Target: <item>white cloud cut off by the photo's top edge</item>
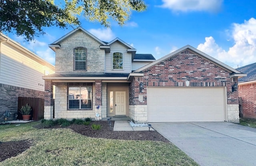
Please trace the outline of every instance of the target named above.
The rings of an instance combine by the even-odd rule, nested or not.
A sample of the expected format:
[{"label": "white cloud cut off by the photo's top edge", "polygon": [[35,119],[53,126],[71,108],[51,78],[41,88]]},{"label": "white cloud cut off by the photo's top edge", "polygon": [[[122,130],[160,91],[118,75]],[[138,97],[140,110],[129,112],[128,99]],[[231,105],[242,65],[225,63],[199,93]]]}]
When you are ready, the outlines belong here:
[{"label": "white cloud cut off by the photo's top edge", "polygon": [[162,8],[174,11],[209,11],[220,10],[223,0],[162,0]]}]

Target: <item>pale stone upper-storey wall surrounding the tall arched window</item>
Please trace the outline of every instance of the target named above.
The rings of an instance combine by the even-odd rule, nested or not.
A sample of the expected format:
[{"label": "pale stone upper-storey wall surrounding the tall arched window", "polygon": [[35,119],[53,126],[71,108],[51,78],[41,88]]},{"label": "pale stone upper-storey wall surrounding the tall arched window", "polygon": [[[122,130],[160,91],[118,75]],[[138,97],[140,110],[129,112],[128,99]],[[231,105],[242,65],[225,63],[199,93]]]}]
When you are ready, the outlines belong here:
[{"label": "pale stone upper-storey wall surrounding the tall arched window", "polygon": [[74,71],[74,48],[86,48],[86,72],[105,71],[105,51],[100,49],[100,43],[91,38],[82,30],[78,30],[60,43],[56,49],[55,72]]}]

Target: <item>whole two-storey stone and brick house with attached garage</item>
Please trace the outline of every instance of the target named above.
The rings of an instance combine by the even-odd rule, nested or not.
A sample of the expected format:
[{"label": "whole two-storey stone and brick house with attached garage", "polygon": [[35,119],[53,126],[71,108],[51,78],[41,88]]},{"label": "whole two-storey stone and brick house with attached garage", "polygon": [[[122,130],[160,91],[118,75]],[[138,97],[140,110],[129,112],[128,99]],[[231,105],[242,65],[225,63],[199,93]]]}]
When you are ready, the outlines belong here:
[{"label": "whole two-storey stone and brick house with attached garage", "polygon": [[55,85],[55,118],[239,122],[232,87],[246,74],[192,46],[154,60],[119,38],[102,42],[81,27],[49,46],[56,52],[56,73],[43,77],[45,118],[53,118]]}]

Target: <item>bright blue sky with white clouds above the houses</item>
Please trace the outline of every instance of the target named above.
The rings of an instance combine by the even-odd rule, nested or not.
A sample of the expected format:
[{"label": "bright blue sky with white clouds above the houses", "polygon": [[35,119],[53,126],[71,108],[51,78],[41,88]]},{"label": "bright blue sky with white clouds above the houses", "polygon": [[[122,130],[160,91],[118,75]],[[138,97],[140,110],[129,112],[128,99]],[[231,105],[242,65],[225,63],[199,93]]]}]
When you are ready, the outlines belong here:
[{"label": "bright blue sky with white clouds above the houses", "polygon": [[[106,28],[80,16],[81,26],[110,42],[116,37],[137,49],[137,54],[152,54],[159,59],[190,45],[233,67],[256,62],[255,0],[144,0],[144,12],[132,11],[124,26],[111,22]],[[75,28],[75,27],[74,27]],[[26,42],[22,36],[8,36],[38,56],[55,64],[55,53],[48,44],[73,28],[44,28],[46,35]]]}]

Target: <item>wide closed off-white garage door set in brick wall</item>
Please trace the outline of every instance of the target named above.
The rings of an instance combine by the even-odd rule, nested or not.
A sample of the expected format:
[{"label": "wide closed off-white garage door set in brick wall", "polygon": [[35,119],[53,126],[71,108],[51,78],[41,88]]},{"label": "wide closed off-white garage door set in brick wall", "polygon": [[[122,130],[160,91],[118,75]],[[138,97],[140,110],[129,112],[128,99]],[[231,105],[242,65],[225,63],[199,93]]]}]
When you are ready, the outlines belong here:
[{"label": "wide closed off-white garage door set in brick wall", "polygon": [[213,122],[226,120],[223,87],[148,87],[148,122]]}]

